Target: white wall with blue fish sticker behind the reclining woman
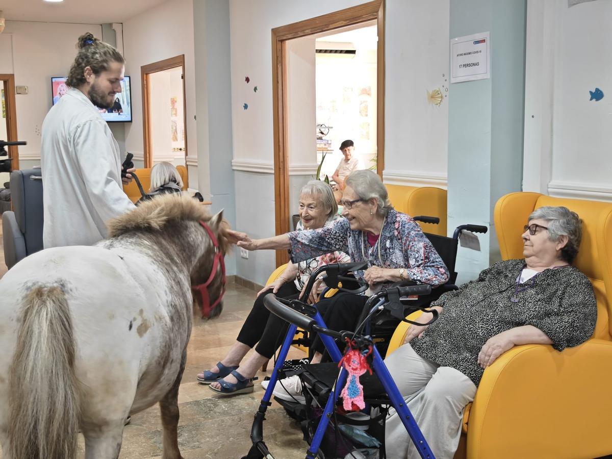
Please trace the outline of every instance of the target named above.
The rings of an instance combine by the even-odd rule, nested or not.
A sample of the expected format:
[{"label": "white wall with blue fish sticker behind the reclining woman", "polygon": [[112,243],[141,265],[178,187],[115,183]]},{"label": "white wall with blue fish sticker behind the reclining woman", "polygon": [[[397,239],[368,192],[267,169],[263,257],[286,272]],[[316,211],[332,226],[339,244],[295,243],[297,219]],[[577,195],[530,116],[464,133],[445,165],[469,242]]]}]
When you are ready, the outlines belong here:
[{"label": "white wall with blue fish sticker behind the reclining woman", "polygon": [[612,201],[612,3],[529,0],[527,17],[523,188]]}]

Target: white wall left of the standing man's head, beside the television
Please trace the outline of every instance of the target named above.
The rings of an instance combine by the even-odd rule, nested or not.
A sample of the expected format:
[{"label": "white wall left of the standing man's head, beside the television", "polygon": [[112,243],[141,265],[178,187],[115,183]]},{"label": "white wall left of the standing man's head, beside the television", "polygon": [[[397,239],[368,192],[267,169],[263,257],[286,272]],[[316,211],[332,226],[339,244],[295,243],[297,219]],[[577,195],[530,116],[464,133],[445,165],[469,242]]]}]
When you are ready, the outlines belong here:
[{"label": "white wall left of the standing man's head, beside the television", "polygon": [[51,108],[51,76],[67,76],[76,41],[85,32],[102,38],[99,24],[6,21],[0,34],[0,73],[13,73],[28,94],[15,95],[20,168],[40,164],[40,127]]}]

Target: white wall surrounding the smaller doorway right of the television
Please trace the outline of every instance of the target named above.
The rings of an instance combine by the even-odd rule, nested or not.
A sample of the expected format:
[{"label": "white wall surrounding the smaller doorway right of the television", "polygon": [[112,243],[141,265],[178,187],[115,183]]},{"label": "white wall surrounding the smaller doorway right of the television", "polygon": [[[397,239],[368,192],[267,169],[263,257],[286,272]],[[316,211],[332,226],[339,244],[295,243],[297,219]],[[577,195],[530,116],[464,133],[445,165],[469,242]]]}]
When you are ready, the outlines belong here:
[{"label": "white wall surrounding the smaller doorway right of the television", "polygon": [[[125,73],[132,76],[133,122],[125,128],[125,149],[136,158],[143,155],[142,86],[140,67],[185,54],[185,98],[187,110],[187,148],[189,187],[204,196],[210,194],[210,177],[206,166],[209,152],[198,149],[198,135],[204,127],[196,122],[195,62],[193,38],[193,1],[169,0],[135,16],[123,24]],[[203,120],[200,121],[200,124]]]}]

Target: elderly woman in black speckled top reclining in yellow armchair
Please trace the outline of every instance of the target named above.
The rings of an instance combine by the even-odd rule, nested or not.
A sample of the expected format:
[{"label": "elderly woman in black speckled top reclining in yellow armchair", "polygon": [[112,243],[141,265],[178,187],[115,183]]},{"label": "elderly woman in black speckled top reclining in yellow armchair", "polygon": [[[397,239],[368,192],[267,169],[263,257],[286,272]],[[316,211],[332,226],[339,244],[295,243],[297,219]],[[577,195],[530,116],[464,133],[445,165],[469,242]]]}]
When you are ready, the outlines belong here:
[{"label": "elderly woman in black speckled top reclining in yellow armchair", "polygon": [[[535,210],[523,233],[525,258],[496,263],[443,294],[432,303],[438,320],[409,327],[405,345],[385,360],[436,458],[455,454],[463,409],[501,354],[523,344],[562,351],[591,337],[595,296],[588,278],[571,266],[580,239],[575,212]],[[385,437],[387,457],[419,457],[395,410]]]}]

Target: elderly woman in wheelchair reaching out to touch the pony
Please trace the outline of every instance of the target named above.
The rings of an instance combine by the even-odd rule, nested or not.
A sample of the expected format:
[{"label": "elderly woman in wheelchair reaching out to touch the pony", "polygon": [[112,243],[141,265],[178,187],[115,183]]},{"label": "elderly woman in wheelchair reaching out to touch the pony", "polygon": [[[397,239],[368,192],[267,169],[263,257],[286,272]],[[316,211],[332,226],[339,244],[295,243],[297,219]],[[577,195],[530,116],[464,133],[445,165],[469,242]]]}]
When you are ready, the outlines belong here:
[{"label": "elderly woman in wheelchair reaching out to touch the pony", "polygon": [[[354,171],[346,177],[342,218],[320,230],[296,231],[268,239],[252,240],[247,234],[230,231],[230,240],[247,250],[289,249],[291,259],[300,261],[340,250],[351,261],[367,261],[365,271],[356,271],[357,280],[365,280],[370,291],[401,280],[414,280],[438,286],[449,278],[444,262],[419,225],[390,205],[380,177],[370,170]],[[316,300],[316,299],[315,299]],[[330,329],[349,330],[357,324],[367,296],[338,293],[321,300],[317,308]],[[321,360],[324,345],[316,339],[312,362]],[[286,379],[275,395],[283,398],[300,392],[299,378]],[[277,392],[277,390],[278,392]],[[283,390],[289,394],[283,394]]]}]

